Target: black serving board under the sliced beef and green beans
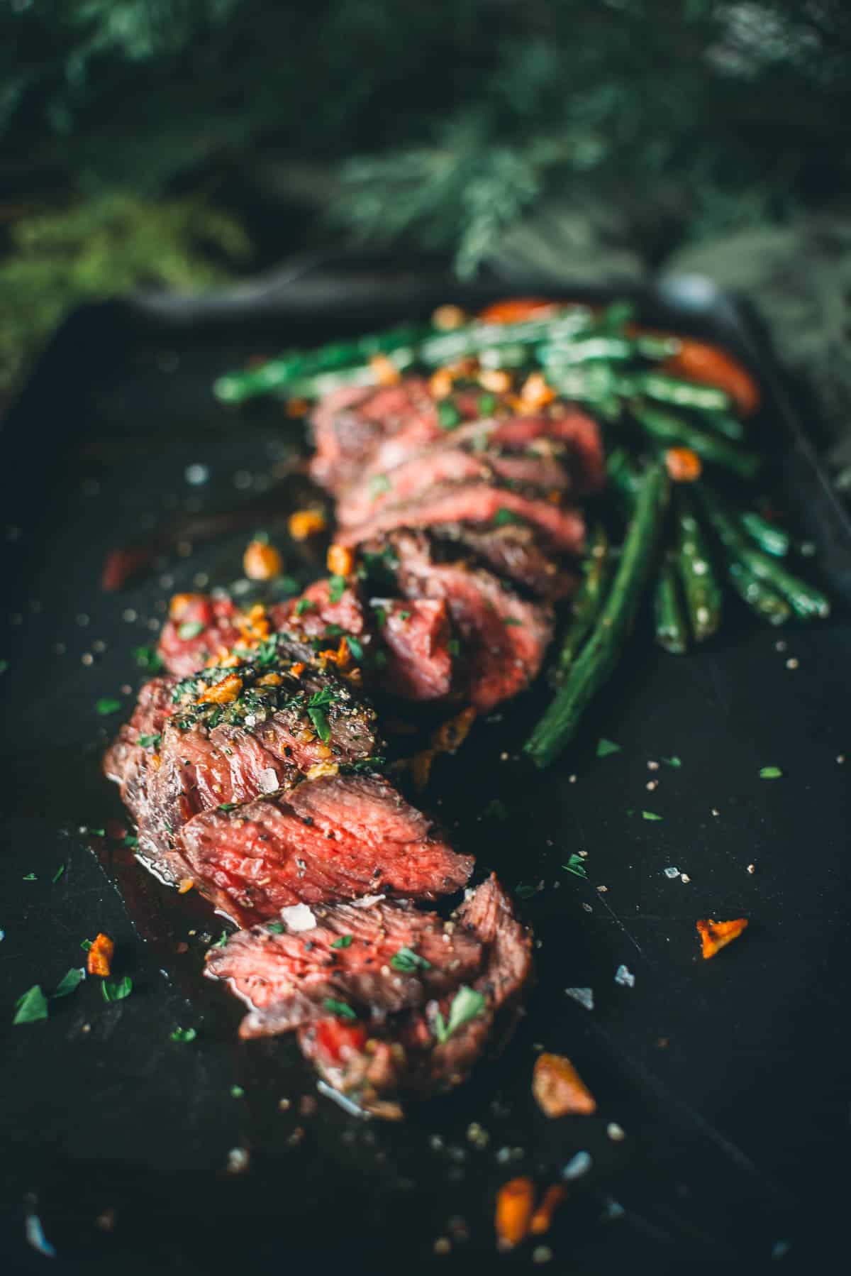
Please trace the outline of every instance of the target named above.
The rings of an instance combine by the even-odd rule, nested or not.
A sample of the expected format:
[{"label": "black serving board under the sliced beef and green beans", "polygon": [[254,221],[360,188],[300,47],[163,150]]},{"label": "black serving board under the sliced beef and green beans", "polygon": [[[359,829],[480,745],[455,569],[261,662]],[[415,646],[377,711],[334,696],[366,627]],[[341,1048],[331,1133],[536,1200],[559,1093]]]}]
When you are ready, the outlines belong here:
[{"label": "black serving board under the sliced beef and green beans", "polygon": [[[714,336],[757,367],[782,501],[818,546],[806,568],[823,572],[836,612],[778,632],[731,609],[718,639],[685,658],[656,649],[640,625],[551,771],[515,757],[541,688],[438,763],[430,800],[478,872],[496,869],[512,888],[544,883],[518,902],[537,937],[537,986],[496,1063],[404,1123],[346,1115],[316,1094],[291,1041],[237,1041],[239,1005],[200,977],[219,919],[161,887],[116,836],[91,832],[126,827],[100,776],[121,715],[100,717],[96,701],[117,697],[129,711],[143,676],[131,649],[156,638],[172,592],[233,579],[255,526],[286,544],[281,516],[297,484],[269,485],[300,427],[276,403],[217,404],[214,376],[253,353],[501,291],[492,281],[462,290],[440,263],[319,260],[198,302],[85,309],[8,415],[4,1270],[45,1268],[40,1228],[55,1266],[87,1276],[304,1262],[537,1270],[533,1257],[572,1273],[818,1270],[829,1250],[848,1154],[851,535],[758,327],[704,281],[669,281],[637,301],[649,322]],[[205,482],[188,481],[193,466],[207,467]],[[116,544],[240,505],[241,527],[198,544],[177,531],[186,544],[153,573],[101,592]],[[296,573],[320,572],[288,553]],[[596,758],[601,736],[621,752]],[[648,769],[672,755],[679,768]],[[783,777],[760,780],[767,764]],[[505,819],[486,813],[495,798]],[[581,850],[587,880],[561,868]],[[667,866],[690,882],[669,879]],[[744,938],[703,962],[695,919],[739,915],[750,917]],[[106,1004],[89,980],[51,1003],[48,1022],[13,1028],[15,998],[82,965],[80,940],[97,930],[115,937],[116,974],[131,975],[133,994]],[[633,988],[615,983],[621,963]],[[592,988],[593,1011],[569,986]],[[174,1042],[176,1026],[196,1039]],[[573,1059],[597,1116],[538,1113],[529,1081],[541,1046]],[[609,1136],[611,1122],[624,1139]],[[228,1173],[233,1150],[248,1154],[239,1174]],[[515,1174],[544,1187],[578,1152],[591,1169],[538,1242],[551,1258],[535,1244],[498,1254],[498,1187]]]}]

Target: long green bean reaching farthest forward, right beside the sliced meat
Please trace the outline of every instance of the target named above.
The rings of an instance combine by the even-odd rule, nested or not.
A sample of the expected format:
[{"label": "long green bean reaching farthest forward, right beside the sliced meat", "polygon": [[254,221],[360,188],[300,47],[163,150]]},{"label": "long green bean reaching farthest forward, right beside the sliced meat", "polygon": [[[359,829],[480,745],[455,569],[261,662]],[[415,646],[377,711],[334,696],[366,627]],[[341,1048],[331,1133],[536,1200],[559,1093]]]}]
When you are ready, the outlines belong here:
[{"label": "long green bean reaching farthest forward, right beside the sliced meat", "polygon": [[584,708],[618,665],[656,559],[669,493],[665,467],[656,462],[642,481],[618,570],[593,633],[523,746],[538,767],[549,766],[561,753],[573,738]]}]

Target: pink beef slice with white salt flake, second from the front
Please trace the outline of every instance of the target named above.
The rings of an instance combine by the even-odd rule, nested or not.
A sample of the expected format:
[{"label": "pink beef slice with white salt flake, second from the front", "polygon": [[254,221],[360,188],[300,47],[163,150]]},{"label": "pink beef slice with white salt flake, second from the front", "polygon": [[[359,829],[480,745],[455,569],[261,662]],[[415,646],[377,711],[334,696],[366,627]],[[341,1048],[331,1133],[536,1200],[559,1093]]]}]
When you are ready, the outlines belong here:
[{"label": "pink beef slice with white salt flake, second from the front", "polygon": [[473,934],[406,902],[300,906],[290,924],[286,910],[283,916],[272,928],[237,931],[207,954],[205,974],[226,980],[250,1008],[242,1037],[325,1018],[328,999],[380,1020],[422,1005],[481,968]]}]

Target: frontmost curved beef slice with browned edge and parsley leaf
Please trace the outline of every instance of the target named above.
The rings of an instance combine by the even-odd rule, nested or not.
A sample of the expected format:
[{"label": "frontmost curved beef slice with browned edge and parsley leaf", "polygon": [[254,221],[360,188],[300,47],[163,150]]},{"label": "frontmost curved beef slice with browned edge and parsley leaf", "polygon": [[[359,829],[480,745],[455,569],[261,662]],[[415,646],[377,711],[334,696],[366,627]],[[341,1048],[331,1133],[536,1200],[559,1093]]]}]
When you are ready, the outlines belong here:
[{"label": "frontmost curved beef slice with browned edge and parsley leaf", "polygon": [[380,1027],[329,1016],[299,1030],[302,1053],[325,1081],[367,1109],[459,1085],[485,1050],[505,1044],[517,1022],[532,975],[532,937],[495,877],[471,892],[454,921],[485,948],[484,968],[471,983],[459,980],[425,1008]]}]

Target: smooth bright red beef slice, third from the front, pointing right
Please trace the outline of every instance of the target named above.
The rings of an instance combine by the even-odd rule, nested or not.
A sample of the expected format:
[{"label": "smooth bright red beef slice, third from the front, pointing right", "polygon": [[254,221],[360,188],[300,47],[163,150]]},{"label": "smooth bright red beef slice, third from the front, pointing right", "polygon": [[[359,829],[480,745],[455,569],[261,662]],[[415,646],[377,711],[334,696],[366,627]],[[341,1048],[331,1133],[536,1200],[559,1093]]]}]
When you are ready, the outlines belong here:
[{"label": "smooth bright red beef slice, third from the front, pointing right", "polygon": [[196,815],[179,836],[202,894],[240,925],[295,903],[389,893],[433,900],[472,870],[376,776],[328,776],[235,810]]}]

